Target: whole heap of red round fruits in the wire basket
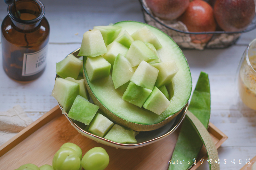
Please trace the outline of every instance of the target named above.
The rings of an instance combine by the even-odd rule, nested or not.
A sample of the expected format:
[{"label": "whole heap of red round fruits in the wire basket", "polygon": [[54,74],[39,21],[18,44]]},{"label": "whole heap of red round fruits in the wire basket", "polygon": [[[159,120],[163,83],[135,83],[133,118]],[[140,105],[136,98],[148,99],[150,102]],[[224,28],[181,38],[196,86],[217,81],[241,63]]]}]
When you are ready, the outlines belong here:
[{"label": "whole heap of red round fruits in the wire basket", "polygon": [[[209,2],[209,3],[207,3]],[[145,0],[152,13],[163,20],[183,22],[190,32],[242,31],[255,16],[254,0]],[[205,43],[211,34],[193,35],[193,43]]]}]

